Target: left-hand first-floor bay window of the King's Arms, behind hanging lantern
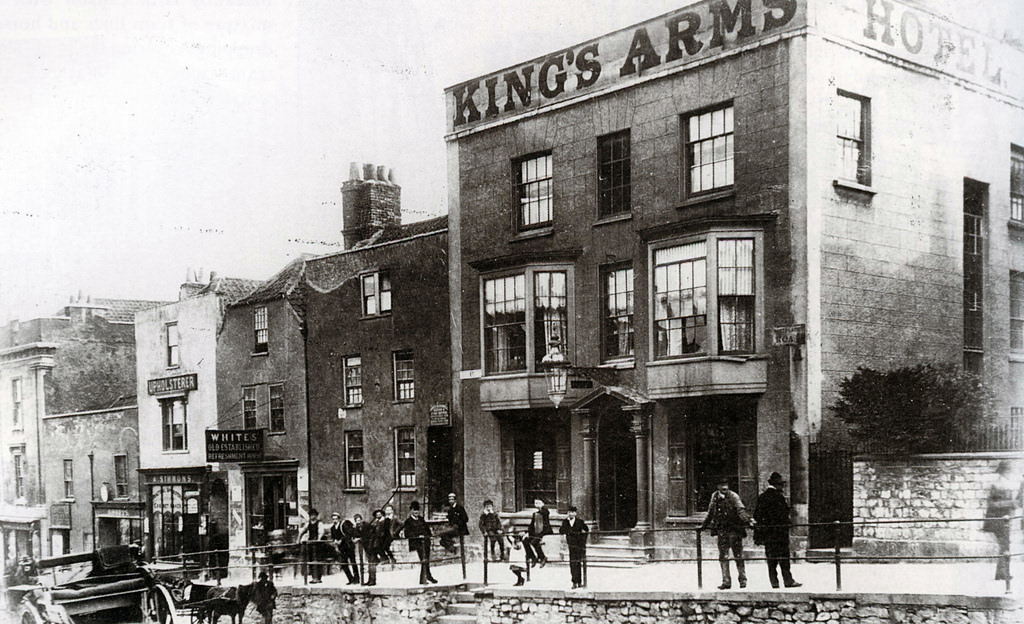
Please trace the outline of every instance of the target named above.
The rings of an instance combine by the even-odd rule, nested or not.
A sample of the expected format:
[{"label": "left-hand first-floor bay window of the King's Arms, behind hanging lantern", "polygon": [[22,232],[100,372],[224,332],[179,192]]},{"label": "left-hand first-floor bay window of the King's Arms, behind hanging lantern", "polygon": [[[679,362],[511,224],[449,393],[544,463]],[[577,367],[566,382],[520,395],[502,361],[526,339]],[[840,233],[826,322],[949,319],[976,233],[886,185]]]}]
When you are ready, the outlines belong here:
[{"label": "left-hand first-floor bay window of the King's Arms, behind hanging lantern", "polygon": [[569,336],[568,284],[567,271],[540,267],[483,280],[487,374],[537,372],[555,337],[564,350]]}]

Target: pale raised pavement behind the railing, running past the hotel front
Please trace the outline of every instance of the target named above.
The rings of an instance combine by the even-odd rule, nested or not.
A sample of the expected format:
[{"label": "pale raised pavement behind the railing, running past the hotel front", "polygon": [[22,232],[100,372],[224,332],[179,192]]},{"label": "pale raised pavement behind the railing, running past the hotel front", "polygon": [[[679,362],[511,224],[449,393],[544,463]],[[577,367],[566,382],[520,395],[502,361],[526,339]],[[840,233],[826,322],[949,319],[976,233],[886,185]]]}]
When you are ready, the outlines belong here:
[{"label": "pale raised pavement behind the railing, running past the hotel front", "polygon": [[[1024,598],[1024,560],[1014,561],[1014,577],[1019,579],[1012,587],[1012,595]],[[336,570],[336,569],[335,569]],[[475,560],[467,564],[466,577],[458,563],[431,566],[433,576],[439,581],[433,587],[455,586],[463,583],[483,585],[483,564]],[[738,586],[733,568],[732,592],[771,592],[780,596],[785,593],[812,593],[815,595],[852,593],[864,594],[923,594],[923,595],[965,595],[1004,596],[1006,583],[994,580],[994,563],[843,563],[842,589],[836,585],[836,569],[831,563],[797,563],[793,575],[802,587],[773,589],[768,582],[768,572],[764,561],[746,564],[749,582],[745,589]],[[236,570],[232,578],[225,583],[248,583],[251,575],[246,570]],[[507,564],[488,565],[488,588],[512,591],[555,590],[567,593],[623,593],[623,592],[666,592],[666,593],[719,593],[721,582],[717,560],[703,564],[703,588],[697,587],[695,563],[654,563],[636,568],[588,567],[587,587],[571,590],[568,566],[564,561],[554,561],[545,568],[532,568],[530,580],[522,587],[513,587],[515,577]],[[301,574],[286,571],[274,581],[279,587],[301,586]],[[310,587],[337,587],[346,590],[366,590],[368,587],[347,585],[347,579],[340,572],[325,575],[321,584]],[[410,589],[423,587],[419,584],[418,564],[382,564],[378,567],[375,592],[388,589]]]}]

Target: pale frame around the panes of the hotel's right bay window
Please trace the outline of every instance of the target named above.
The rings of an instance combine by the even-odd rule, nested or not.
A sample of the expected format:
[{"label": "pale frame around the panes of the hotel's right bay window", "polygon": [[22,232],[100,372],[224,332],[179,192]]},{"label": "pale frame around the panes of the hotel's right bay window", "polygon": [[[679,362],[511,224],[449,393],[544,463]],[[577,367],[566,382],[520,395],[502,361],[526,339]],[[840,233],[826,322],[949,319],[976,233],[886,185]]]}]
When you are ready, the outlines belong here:
[{"label": "pale frame around the panes of the hotel's right bay window", "polygon": [[[723,239],[754,240],[754,348],[750,352],[736,353],[723,351],[719,340],[719,296],[718,296],[718,241]],[[707,255],[707,337],[706,348],[692,352],[671,356],[656,355],[657,332],[654,326],[654,254],[659,249],[706,241]],[[764,273],[764,233],[761,230],[730,230],[726,227],[711,227],[686,237],[667,239],[652,243],[647,253],[647,343],[650,345],[650,361],[666,362],[674,360],[690,360],[719,356],[752,356],[764,350],[764,307],[765,307],[765,273]]]}]

